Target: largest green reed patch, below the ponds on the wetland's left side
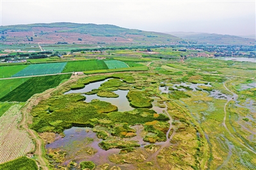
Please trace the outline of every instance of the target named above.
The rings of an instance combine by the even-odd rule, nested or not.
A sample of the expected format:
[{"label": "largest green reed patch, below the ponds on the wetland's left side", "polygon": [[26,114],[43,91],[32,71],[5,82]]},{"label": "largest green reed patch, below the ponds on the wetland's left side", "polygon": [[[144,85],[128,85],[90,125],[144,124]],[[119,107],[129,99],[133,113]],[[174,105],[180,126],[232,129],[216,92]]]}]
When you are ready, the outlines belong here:
[{"label": "largest green reed patch, below the ponds on the wetland's left side", "polygon": [[[63,132],[65,128],[94,127],[97,124],[108,125],[108,114],[117,111],[115,105],[99,100],[84,102],[85,97],[79,94],[68,94],[51,97],[40,102],[31,111],[34,116],[31,128],[36,132]],[[100,123],[100,120],[103,123]]]}]

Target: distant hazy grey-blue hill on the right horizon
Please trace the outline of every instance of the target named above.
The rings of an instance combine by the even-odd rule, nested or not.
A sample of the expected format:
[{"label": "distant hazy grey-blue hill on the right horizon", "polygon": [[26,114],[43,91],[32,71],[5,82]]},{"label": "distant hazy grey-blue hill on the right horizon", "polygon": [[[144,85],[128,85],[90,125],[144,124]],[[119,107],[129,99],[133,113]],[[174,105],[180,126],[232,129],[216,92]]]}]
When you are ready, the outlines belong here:
[{"label": "distant hazy grey-blue hill on the right horizon", "polygon": [[254,45],[255,39],[243,38],[233,35],[218,35],[209,33],[194,33],[194,32],[168,32],[168,34],[184,38],[186,40],[213,45]]}]

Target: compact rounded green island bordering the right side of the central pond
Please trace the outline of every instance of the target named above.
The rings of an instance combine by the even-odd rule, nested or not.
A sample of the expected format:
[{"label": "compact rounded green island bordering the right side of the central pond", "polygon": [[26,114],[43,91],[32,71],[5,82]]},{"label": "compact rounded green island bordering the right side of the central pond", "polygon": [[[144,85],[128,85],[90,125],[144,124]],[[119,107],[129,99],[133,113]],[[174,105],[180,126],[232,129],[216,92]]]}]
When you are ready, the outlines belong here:
[{"label": "compact rounded green island bordering the right side of the central pond", "polygon": [[150,98],[148,93],[138,90],[129,91],[127,98],[130,102],[130,105],[134,108],[151,108],[151,103],[154,101],[152,98]]}]

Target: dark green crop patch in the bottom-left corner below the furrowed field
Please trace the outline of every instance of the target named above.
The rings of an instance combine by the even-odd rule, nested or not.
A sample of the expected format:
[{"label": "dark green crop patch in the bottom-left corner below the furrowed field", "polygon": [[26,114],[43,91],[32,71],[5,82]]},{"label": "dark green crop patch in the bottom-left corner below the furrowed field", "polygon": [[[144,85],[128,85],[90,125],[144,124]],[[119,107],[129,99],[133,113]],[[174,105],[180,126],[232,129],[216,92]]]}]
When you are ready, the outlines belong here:
[{"label": "dark green crop patch in the bottom-left corner below the furrowed field", "polygon": [[28,157],[20,157],[15,160],[0,164],[0,169],[3,170],[37,170],[36,161]]}]

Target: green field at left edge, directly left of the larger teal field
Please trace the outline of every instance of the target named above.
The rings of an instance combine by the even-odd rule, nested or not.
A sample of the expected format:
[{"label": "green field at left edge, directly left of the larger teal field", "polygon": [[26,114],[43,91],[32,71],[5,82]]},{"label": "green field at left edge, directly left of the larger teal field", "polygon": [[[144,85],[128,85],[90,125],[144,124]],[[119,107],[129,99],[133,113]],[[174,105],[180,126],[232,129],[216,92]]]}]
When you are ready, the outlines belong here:
[{"label": "green field at left edge, directly left of the larger teal field", "polygon": [[27,66],[28,65],[0,66],[0,78],[12,77],[12,75],[20,72],[20,70],[23,70]]}]

